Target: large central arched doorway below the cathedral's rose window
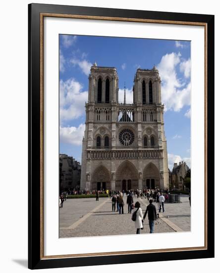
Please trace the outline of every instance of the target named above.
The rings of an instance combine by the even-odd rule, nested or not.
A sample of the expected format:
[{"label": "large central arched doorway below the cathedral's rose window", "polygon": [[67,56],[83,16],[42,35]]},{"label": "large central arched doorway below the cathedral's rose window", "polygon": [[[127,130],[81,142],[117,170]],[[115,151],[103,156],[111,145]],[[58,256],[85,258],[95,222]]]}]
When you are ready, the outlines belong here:
[{"label": "large central arched doorway below the cathedral's rose window", "polygon": [[121,163],[115,175],[115,190],[128,191],[138,188],[138,172],[135,166],[128,160]]}]

